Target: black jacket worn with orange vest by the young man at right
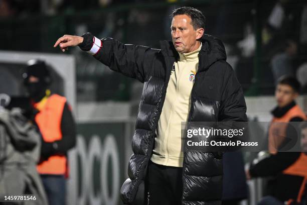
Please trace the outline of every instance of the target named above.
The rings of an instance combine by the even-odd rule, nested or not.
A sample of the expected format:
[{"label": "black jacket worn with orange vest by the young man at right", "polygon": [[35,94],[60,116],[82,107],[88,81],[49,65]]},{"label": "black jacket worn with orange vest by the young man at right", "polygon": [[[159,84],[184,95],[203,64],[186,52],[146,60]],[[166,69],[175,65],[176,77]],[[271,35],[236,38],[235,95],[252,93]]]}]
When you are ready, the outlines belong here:
[{"label": "black jacket worn with orange vest by the young man at right", "polygon": [[[276,118],[281,118],[295,105],[293,101],[284,108],[276,107],[272,111],[272,114]],[[303,119],[300,117],[293,116],[290,122],[301,122],[302,120]],[[286,136],[293,134],[297,135],[297,133],[293,133],[290,128],[287,128]],[[278,150],[282,150],[282,147],[283,144],[280,145]],[[290,167],[300,155],[300,152],[277,152],[276,154],[268,155],[262,160],[259,160],[256,164],[251,165],[249,173],[252,177],[274,176],[273,179],[268,181],[266,195],[274,196],[280,201],[286,201],[288,199],[296,200],[304,177],[285,174],[283,171]]]}]

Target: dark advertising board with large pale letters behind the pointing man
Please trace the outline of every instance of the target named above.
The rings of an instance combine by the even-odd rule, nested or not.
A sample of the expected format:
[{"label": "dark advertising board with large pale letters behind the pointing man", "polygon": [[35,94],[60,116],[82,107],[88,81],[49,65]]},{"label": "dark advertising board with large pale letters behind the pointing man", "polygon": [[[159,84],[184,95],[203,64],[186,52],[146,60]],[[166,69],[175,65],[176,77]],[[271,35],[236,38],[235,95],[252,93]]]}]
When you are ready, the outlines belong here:
[{"label": "dark advertising board with large pale letters behind the pointing man", "polygon": [[77,146],[69,153],[67,204],[122,204],[125,129],[124,122],[77,125]]}]

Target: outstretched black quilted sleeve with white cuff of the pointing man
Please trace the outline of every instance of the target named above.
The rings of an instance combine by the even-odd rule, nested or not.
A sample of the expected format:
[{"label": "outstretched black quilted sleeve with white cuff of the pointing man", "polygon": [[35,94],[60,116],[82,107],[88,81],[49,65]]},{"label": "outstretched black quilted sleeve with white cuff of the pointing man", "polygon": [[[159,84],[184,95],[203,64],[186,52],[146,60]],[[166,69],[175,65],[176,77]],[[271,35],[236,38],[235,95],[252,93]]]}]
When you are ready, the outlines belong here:
[{"label": "outstretched black quilted sleeve with white cuff of the pointing man", "polygon": [[[103,38],[101,42],[96,43],[95,40],[98,39],[90,33],[84,34],[83,38],[82,44],[79,45],[82,50],[90,51],[97,60],[110,69],[141,82],[145,81],[152,60],[158,52],[157,49],[145,46],[122,44],[112,38]],[[93,46],[97,47],[94,53],[91,52]]]}]

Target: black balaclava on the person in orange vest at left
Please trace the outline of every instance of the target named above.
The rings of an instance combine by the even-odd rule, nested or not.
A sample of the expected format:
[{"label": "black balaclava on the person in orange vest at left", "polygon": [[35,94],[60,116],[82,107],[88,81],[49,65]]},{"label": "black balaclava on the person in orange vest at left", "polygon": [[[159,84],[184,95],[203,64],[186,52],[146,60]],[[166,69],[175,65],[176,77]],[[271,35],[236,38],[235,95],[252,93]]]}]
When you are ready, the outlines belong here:
[{"label": "black balaclava on the person in orange vest at left", "polygon": [[[29,82],[30,76],[39,78],[38,82]],[[39,102],[45,95],[46,89],[51,83],[50,72],[47,69],[45,61],[30,60],[23,73],[24,84],[27,88],[29,96]]]}]

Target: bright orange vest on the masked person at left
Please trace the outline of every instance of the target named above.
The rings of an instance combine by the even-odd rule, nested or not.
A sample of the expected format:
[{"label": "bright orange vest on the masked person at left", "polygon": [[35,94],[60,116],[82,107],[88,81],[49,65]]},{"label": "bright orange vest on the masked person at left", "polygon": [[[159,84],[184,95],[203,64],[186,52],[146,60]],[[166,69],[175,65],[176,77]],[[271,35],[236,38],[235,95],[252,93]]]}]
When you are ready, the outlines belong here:
[{"label": "bright orange vest on the masked person at left", "polygon": [[[36,115],[35,121],[45,142],[62,139],[61,121],[66,98],[57,94],[48,97],[42,110]],[[36,106],[36,105],[35,105]],[[65,174],[66,156],[53,155],[37,166],[40,174]]]}]

